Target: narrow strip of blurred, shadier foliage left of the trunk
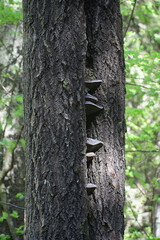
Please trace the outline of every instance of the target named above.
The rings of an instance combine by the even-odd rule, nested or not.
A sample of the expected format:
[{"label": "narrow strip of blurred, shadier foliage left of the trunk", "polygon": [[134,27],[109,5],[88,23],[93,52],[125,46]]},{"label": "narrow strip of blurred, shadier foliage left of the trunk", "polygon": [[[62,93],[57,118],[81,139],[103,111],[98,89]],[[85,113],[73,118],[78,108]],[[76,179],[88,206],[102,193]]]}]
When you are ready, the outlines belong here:
[{"label": "narrow strip of blurred, shadier foliage left of the trunk", "polygon": [[[8,178],[8,173],[13,171],[14,165],[18,165],[18,158],[23,156],[25,141],[23,138],[23,96],[22,96],[22,6],[21,1],[1,0],[0,1],[0,52],[4,59],[0,59],[0,171],[4,177]],[[6,30],[7,29],[7,30]],[[6,32],[8,31],[8,32]],[[19,36],[20,45],[18,46],[17,36]],[[19,155],[17,155],[19,152]],[[21,154],[21,155],[20,155]],[[22,161],[23,159],[21,159]],[[19,160],[20,161],[20,160]],[[3,169],[4,167],[4,169]],[[3,175],[3,174],[2,174]],[[3,189],[8,188],[3,180]],[[7,183],[8,184],[8,183]],[[0,185],[0,191],[2,185]],[[19,190],[20,191],[20,190]],[[5,194],[5,195],[3,195]],[[24,201],[24,195],[18,193],[17,202]],[[10,191],[0,193],[0,200],[9,199]],[[18,204],[17,204],[18,205]],[[23,222],[22,211],[17,212],[6,205],[1,204],[0,215],[0,240],[10,239],[10,236],[16,235],[16,239],[22,239]],[[2,228],[7,226],[10,232],[5,234]],[[17,227],[20,225],[20,227]],[[11,226],[11,227],[10,227]]]}]

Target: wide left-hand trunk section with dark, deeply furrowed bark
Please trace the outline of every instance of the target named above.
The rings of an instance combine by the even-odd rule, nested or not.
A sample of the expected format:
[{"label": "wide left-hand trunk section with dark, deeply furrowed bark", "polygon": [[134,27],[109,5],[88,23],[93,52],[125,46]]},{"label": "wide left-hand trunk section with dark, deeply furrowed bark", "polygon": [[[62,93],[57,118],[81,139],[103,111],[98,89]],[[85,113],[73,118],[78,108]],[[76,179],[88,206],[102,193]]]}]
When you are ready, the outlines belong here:
[{"label": "wide left-hand trunk section with dark, deeply furrowed bark", "polygon": [[26,239],[87,239],[83,1],[23,4]]}]

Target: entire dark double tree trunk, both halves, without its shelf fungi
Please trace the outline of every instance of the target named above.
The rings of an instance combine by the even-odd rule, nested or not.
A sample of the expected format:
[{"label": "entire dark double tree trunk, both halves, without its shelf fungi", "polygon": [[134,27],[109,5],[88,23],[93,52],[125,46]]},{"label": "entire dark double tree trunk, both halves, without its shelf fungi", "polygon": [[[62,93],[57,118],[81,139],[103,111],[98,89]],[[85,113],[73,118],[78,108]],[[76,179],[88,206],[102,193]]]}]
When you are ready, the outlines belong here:
[{"label": "entire dark double tree trunk, both halves, without its shelf fungi", "polygon": [[[24,0],[23,9],[26,240],[123,239],[119,1]],[[103,110],[86,117],[85,80],[97,78]],[[87,137],[103,142],[88,164]]]}]

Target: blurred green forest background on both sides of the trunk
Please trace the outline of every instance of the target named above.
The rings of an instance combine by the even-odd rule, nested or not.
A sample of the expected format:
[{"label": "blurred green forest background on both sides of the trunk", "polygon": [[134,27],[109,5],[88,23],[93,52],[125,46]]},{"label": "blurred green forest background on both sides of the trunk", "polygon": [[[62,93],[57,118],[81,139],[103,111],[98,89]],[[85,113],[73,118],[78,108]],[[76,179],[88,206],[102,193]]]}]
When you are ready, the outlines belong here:
[{"label": "blurred green forest background on both sides of the trunk", "polygon": [[[22,6],[0,1],[0,240],[24,234]],[[126,61],[125,240],[160,240],[160,0],[121,0]]]}]

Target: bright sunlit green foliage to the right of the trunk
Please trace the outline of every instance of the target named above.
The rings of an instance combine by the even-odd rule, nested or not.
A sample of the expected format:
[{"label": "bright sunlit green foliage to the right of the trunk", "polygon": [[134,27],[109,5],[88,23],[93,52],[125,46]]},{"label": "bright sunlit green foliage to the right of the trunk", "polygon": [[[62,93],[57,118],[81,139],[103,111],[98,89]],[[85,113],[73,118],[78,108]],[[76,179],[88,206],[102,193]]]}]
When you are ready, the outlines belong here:
[{"label": "bright sunlit green foliage to the right of the trunk", "polygon": [[[128,28],[135,1],[122,1],[126,60],[126,184],[137,191],[141,206],[154,214],[160,204],[158,190],[160,166],[160,53],[159,1],[140,0]],[[124,31],[125,32],[125,31]],[[159,239],[154,237],[152,222],[138,219],[140,209],[126,197],[125,216],[132,219],[125,239]],[[138,227],[137,227],[138,225]]]}]

